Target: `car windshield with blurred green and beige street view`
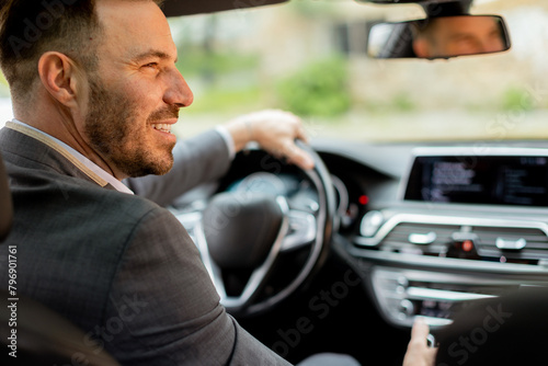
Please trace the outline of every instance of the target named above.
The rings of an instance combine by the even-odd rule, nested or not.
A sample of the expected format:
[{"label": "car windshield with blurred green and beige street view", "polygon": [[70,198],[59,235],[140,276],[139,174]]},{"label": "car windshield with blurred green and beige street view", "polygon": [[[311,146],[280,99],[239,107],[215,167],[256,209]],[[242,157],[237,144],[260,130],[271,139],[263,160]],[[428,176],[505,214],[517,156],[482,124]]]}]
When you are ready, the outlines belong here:
[{"label": "car windshield with blurred green and beige street view", "polygon": [[170,19],[195,94],[176,134],[274,107],[302,116],[312,138],[546,139],[548,3],[477,0],[470,13],[502,15],[512,48],[433,61],[367,57],[368,30],[424,18],[416,4],[294,0]]}]

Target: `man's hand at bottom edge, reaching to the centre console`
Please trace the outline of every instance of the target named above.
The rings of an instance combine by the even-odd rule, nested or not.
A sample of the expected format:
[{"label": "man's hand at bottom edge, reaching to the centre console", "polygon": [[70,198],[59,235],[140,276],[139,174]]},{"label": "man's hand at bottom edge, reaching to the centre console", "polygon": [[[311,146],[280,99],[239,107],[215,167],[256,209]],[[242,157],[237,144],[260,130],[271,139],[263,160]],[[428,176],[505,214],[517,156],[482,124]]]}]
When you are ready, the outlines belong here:
[{"label": "man's hand at bottom edge, reaching to the centre console", "polygon": [[403,358],[403,366],[433,366],[437,348],[429,347],[426,338],[430,328],[422,318],[416,318],[411,330],[411,340]]}]

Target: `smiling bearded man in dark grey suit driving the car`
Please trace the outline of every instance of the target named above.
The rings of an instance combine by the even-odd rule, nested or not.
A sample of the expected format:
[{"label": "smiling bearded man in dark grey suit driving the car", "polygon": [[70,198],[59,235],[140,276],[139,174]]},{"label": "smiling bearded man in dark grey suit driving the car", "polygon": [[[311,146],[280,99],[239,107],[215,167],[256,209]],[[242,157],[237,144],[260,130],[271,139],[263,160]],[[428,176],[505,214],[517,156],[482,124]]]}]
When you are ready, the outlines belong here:
[{"label": "smiling bearded man in dark grey suit driving the car", "polygon": [[[16,245],[18,290],[123,365],[287,365],[226,313],[179,221],[121,182],[168,173],[171,127],[193,101],[158,4],[15,0],[1,20],[15,119],[0,131],[0,149],[15,216],[0,267]],[[279,138],[260,124],[284,125]],[[293,115],[253,114],[226,131],[235,149],[255,139],[310,167],[293,145],[304,137]],[[201,160],[201,179],[212,162]],[[147,184],[128,185],[147,193]]]}]

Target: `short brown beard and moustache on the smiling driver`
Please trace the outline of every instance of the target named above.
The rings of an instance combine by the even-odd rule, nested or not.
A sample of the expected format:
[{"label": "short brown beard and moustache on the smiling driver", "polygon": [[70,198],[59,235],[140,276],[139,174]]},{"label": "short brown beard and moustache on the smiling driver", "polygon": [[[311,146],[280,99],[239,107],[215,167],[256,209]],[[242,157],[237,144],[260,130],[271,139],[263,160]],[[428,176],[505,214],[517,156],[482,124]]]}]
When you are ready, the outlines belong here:
[{"label": "short brown beard and moustache on the smiling driver", "polygon": [[[152,112],[144,126],[138,102],[106,89],[99,77],[90,77],[90,110],[84,133],[90,145],[109,163],[127,176],[162,175],[173,167],[174,144],[150,145],[148,128],[157,121],[179,116],[179,107]],[[147,145],[148,142],[148,145]]]}]

